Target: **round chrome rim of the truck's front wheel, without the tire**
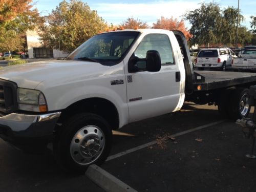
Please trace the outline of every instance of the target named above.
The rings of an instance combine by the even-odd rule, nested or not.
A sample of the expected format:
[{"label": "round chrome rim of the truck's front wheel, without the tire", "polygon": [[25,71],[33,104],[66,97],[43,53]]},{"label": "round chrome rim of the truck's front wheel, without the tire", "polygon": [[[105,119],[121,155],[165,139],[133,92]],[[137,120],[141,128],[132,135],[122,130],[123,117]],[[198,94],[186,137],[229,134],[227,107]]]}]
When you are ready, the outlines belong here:
[{"label": "round chrome rim of the truck's front wheel, without the tire", "polygon": [[95,125],[82,127],[73,137],[70,144],[70,154],[80,165],[91,164],[101,155],[105,146],[102,130]]}]

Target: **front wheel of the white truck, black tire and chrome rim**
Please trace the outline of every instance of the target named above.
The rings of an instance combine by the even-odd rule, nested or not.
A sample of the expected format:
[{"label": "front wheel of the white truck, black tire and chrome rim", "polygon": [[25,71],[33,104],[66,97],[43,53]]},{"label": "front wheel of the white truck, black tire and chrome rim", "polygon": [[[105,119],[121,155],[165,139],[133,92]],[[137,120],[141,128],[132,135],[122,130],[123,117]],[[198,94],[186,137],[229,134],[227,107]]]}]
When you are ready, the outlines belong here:
[{"label": "front wheel of the white truck, black tire and chrome rim", "polygon": [[101,165],[111,149],[112,132],[108,122],[96,114],[80,113],[68,119],[54,142],[59,165],[83,173],[89,165]]}]

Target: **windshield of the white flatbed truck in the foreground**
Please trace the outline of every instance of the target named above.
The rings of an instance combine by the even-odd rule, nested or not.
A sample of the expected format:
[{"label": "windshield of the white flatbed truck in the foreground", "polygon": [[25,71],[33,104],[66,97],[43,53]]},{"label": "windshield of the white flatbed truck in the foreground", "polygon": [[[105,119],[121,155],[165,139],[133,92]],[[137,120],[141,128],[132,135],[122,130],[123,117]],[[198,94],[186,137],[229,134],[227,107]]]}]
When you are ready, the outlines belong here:
[{"label": "windshield of the white flatbed truck in the foreground", "polygon": [[95,35],[73,51],[68,59],[115,65],[125,56],[139,34],[130,31]]}]

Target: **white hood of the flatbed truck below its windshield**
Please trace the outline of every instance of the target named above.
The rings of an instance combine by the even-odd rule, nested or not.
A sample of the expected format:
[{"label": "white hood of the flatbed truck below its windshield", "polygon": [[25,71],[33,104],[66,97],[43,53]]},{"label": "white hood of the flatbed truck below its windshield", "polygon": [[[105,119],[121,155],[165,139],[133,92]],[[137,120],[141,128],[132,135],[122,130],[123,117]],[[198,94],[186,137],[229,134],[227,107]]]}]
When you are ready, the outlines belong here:
[{"label": "white hood of the flatbed truck below its windshield", "polygon": [[43,81],[60,83],[88,74],[98,76],[107,68],[110,67],[90,61],[48,60],[5,67],[0,70],[0,78],[13,81],[20,88],[35,89]]}]

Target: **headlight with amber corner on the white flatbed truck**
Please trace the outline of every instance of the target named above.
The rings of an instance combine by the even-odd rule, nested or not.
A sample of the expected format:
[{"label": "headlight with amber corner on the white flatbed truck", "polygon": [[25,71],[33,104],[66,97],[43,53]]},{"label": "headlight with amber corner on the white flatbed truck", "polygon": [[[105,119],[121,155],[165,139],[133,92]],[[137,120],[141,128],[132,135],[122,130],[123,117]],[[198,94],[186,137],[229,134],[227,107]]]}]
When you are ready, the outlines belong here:
[{"label": "headlight with amber corner on the white flatbed truck", "polygon": [[46,112],[47,103],[44,94],[37,90],[17,89],[18,108],[24,111]]}]

